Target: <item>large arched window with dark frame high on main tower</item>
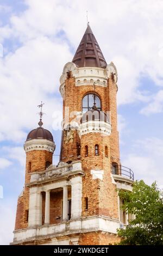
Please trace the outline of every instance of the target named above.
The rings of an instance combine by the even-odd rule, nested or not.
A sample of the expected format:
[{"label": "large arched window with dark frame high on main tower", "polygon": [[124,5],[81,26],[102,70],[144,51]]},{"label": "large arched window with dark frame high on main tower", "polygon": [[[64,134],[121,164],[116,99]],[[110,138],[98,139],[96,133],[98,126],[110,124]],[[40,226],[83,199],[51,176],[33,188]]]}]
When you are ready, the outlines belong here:
[{"label": "large arched window with dark frame high on main tower", "polygon": [[92,109],[93,103],[94,103],[94,97],[95,97],[95,102],[96,102],[96,107],[99,111],[101,111],[101,100],[99,97],[95,94],[87,94],[83,97],[82,100],[82,111],[86,112]]}]

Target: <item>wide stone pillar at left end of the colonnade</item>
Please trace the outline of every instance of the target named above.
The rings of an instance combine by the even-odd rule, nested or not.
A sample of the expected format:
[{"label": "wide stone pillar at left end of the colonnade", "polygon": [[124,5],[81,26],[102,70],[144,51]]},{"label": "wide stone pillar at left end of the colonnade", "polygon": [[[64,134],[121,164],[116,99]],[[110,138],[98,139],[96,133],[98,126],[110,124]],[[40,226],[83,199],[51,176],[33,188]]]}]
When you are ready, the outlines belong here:
[{"label": "wide stone pillar at left end of the colonnade", "polygon": [[37,187],[29,190],[29,218],[28,225],[42,225],[42,194]]}]

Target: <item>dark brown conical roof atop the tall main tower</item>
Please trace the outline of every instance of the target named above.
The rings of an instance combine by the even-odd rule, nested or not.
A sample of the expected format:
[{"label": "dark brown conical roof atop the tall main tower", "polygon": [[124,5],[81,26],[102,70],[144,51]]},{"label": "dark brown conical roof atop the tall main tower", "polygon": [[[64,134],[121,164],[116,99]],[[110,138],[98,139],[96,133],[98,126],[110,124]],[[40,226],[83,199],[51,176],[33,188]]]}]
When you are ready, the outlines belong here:
[{"label": "dark brown conical roof atop the tall main tower", "polygon": [[99,48],[95,36],[91,31],[90,25],[86,28],[82,41],[74,54],[72,62],[79,68],[84,66],[106,68],[106,60],[102,54],[101,48]]}]

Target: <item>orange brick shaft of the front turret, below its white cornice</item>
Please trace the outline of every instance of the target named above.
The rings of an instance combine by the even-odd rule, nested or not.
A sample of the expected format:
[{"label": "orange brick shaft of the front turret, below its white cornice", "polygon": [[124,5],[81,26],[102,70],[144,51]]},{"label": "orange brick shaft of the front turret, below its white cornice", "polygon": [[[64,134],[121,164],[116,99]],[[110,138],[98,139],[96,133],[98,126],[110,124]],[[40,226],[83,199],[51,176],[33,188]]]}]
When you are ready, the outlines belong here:
[{"label": "orange brick shaft of the front turret, below its white cornice", "polygon": [[[95,156],[95,145],[99,145],[99,155]],[[85,157],[85,145],[88,146],[88,156]],[[110,150],[105,156],[105,145],[110,146],[109,136],[101,133],[88,133],[81,138],[83,177],[83,216],[104,215],[118,218],[116,185],[110,175]],[[91,170],[104,170],[103,180],[92,179]],[[85,198],[88,198],[88,209],[85,210]]]}]

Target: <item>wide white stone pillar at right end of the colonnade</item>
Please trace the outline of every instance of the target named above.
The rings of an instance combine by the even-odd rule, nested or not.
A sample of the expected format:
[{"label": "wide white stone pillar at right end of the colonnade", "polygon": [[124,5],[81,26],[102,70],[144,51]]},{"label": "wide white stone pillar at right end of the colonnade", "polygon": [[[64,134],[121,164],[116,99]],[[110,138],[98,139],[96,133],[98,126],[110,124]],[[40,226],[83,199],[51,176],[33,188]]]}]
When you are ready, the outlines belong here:
[{"label": "wide white stone pillar at right end of the colonnade", "polygon": [[71,218],[82,215],[82,176],[71,179]]}]

